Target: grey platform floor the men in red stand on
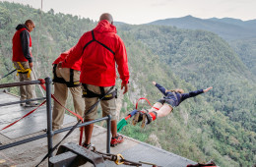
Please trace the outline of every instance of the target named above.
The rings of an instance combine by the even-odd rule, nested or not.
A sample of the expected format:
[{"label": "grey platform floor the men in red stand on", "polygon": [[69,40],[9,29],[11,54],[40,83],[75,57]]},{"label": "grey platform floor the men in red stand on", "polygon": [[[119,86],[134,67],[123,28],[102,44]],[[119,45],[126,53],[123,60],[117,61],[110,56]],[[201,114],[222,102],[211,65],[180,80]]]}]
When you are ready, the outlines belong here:
[{"label": "grey platform floor the men in red stand on", "polygon": [[[0,103],[10,102],[12,100],[18,100],[16,96],[12,96],[7,93],[0,93]],[[31,111],[32,108],[24,108],[19,104],[12,106],[0,107],[0,128],[5,127],[11,122],[17,120],[24,114]],[[74,125],[76,118],[65,115],[66,127]],[[1,132],[0,141],[2,144],[11,143],[19,139],[30,138],[34,135],[42,133],[42,130],[46,129],[46,113],[45,108],[32,113],[31,116],[25,118],[20,123],[10,127],[9,129]],[[53,137],[53,145],[55,145],[60,139],[64,137],[65,133],[57,134]],[[78,143],[80,136],[79,129],[76,129],[64,142]],[[101,152],[106,151],[106,129],[95,126],[92,143],[96,145],[96,150]],[[121,153],[125,159],[132,161],[145,161],[157,164],[164,167],[184,167],[187,164],[196,164],[195,162],[176,155],[174,153],[165,151],[156,146],[147,144],[145,142],[138,141],[124,137],[124,142],[111,147],[111,153]],[[7,148],[0,151],[0,166],[19,166],[30,167],[35,166],[42,157],[47,153],[47,139],[37,139],[28,143],[24,143],[15,147]],[[117,166],[115,163],[106,160],[106,166]],[[45,160],[40,166],[47,166]],[[92,166],[92,164],[85,164],[85,167]],[[126,166],[126,165],[118,165]],[[149,165],[143,165],[149,166]]]}]

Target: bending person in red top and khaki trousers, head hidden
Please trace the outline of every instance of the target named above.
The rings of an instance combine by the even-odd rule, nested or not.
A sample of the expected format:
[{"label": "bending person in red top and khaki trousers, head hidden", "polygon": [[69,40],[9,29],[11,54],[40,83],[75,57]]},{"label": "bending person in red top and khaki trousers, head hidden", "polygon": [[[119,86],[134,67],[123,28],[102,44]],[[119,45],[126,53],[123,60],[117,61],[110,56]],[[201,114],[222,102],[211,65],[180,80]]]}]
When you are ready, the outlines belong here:
[{"label": "bending person in red top and khaki trousers, head hidden", "polygon": [[[72,49],[72,48],[71,48]],[[71,50],[70,49],[70,50]],[[82,60],[80,59],[72,66],[62,66],[62,68],[56,68],[59,62],[65,60],[70,50],[62,53],[53,64],[53,83],[54,83],[54,96],[62,105],[66,105],[68,98],[68,89],[73,96],[73,103],[75,113],[83,116],[85,110],[85,101],[82,98],[82,88],[79,82],[81,73]],[[54,100],[52,110],[52,129],[58,130],[63,124],[65,109]]]}]

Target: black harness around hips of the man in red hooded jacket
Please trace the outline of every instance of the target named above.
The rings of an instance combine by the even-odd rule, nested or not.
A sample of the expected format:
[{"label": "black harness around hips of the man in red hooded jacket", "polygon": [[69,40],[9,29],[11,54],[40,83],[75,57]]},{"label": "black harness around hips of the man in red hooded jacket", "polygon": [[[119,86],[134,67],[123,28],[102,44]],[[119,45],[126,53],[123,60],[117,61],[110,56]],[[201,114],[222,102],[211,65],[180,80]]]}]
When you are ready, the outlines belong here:
[{"label": "black harness around hips of the man in red hooded jacket", "polygon": [[[102,98],[101,100],[110,100],[112,98],[117,98],[117,88],[115,88],[115,90],[105,95],[104,87],[102,86],[99,86],[100,94],[96,94],[94,91],[91,91],[90,89],[88,89],[87,84],[82,83],[82,85],[84,86],[83,97],[87,97],[87,98],[98,97],[98,98]],[[114,87],[114,85],[111,87]]]}]

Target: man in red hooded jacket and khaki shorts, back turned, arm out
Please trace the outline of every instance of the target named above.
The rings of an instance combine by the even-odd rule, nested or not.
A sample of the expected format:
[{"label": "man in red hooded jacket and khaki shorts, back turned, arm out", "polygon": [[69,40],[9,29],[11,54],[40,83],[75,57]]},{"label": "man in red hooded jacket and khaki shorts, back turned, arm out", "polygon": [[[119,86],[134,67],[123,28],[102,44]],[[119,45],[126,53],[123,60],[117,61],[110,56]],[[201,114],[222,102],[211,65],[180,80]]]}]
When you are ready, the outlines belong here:
[{"label": "man in red hooded jacket and khaki shorts, back turned, arm out", "polygon": [[[73,65],[82,57],[82,69],[80,82],[83,84],[83,96],[86,101],[86,113],[96,103],[97,99],[104,96],[112,86],[115,85],[117,70],[122,80],[121,89],[123,93],[128,91],[128,60],[122,39],[116,34],[113,19],[110,14],[102,14],[99,22],[92,31],[87,31],[79,39],[76,46],[70,51],[62,66]],[[123,137],[117,135],[115,90],[104,96],[100,101],[102,116],[111,115],[111,146],[123,141]],[[86,122],[96,119],[96,107],[86,116]],[[94,124],[86,126],[86,141],[84,146],[91,143]]]}]

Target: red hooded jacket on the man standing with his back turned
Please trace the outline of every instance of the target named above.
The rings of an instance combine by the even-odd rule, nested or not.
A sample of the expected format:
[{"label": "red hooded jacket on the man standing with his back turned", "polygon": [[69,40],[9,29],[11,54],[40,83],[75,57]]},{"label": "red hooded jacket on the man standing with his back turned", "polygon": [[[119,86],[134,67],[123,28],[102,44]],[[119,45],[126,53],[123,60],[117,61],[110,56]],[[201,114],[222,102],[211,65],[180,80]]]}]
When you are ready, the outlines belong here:
[{"label": "red hooded jacket on the man standing with his back turned", "polygon": [[[63,66],[72,66],[82,57],[80,83],[111,86],[115,85],[116,62],[122,83],[128,83],[127,53],[122,39],[116,34],[116,28],[103,20],[97,24],[94,34],[96,41],[92,41],[92,31],[82,35],[63,62]],[[99,43],[108,47],[114,54]]]}]

